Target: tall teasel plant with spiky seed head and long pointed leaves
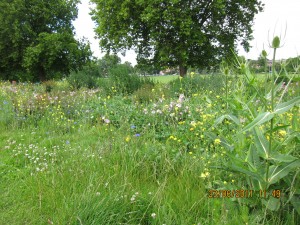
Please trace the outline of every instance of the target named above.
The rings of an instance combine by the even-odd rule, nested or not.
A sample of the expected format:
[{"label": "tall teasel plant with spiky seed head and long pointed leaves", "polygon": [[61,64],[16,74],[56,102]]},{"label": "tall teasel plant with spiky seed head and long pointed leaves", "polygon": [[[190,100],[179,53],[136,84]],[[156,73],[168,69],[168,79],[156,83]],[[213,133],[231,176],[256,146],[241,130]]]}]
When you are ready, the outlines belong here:
[{"label": "tall teasel plant with spiky seed head and long pointed leaves", "polygon": [[[259,81],[249,72],[247,64],[244,65],[243,74],[246,77],[249,88],[255,91],[250,92],[251,94],[245,96],[246,98],[236,95],[235,99],[242,104],[241,107],[244,110],[249,112],[247,116],[248,123],[243,125],[237,120],[241,116],[239,115],[240,113],[221,116],[215,122],[216,126],[224,120],[234,122],[234,129],[237,130],[236,138],[232,140],[231,144],[227,145],[230,141],[222,140],[227,145],[230,153],[228,153],[228,158],[223,161],[223,166],[219,168],[235,171],[248,177],[245,181],[249,189],[268,192],[267,196],[259,199],[268,210],[278,211],[289,207],[297,210],[298,206],[294,202],[299,199],[299,190],[296,184],[299,182],[298,173],[300,169],[300,158],[296,151],[297,146],[299,146],[299,132],[290,130],[291,133],[287,137],[287,131],[284,129],[292,126],[292,124],[281,124],[280,115],[292,110],[295,105],[299,104],[300,98],[291,97],[290,100],[282,102],[286,94],[286,88],[288,88],[292,80],[288,81],[287,86],[282,86],[283,83],[279,85],[275,83],[274,62],[278,40],[274,40],[273,84],[270,86],[269,93],[264,94],[257,89],[256,85],[258,86]],[[282,87],[284,87],[284,90],[280,93]],[[259,99],[256,102],[261,102],[259,112],[256,111],[257,104],[254,103],[254,99]],[[228,102],[227,104],[232,103],[236,107],[238,106],[234,102]],[[295,108],[294,110],[297,111],[297,107]],[[222,133],[224,134],[224,132],[223,130]],[[276,133],[279,136],[279,140],[275,138]],[[209,136],[212,136],[212,134],[209,134]],[[246,139],[251,139],[252,141],[245,144]],[[289,148],[286,148],[287,145],[289,145]],[[233,151],[233,149],[238,150]],[[242,149],[245,149],[245,151]],[[246,156],[244,152],[246,152]],[[281,190],[283,194],[276,196],[272,192],[274,190]],[[257,199],[250,202],[255,204],[254,201],[257,201]],[[244,202],[246,203],[246,201]]]}]

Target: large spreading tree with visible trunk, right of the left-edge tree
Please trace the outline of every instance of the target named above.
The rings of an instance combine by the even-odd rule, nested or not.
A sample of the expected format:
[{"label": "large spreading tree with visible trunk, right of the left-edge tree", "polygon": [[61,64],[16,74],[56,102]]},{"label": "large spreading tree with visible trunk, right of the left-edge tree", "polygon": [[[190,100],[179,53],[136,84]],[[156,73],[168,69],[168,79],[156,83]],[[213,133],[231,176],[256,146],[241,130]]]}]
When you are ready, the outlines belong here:
[{"label": "large spreading tree with visible trunk, right of the left-edge tree", "polygon": [[174,67],[209,67],[246,50],[258,0],[91,0],[96,33],[105,51],[134,48],[137,60]]}]

